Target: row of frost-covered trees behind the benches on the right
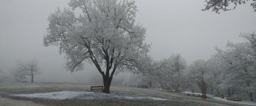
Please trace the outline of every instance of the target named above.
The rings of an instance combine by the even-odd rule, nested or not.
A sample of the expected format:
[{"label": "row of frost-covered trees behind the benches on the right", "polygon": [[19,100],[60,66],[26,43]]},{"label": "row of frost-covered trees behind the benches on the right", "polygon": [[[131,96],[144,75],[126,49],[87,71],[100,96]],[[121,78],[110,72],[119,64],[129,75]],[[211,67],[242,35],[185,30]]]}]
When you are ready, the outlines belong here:
[{"label": "row of frost-covered trees behind the benches on the right", "polygon": [[241,43],[227,43],[225,50],[215,47],[215,53],[208,60],[196,60],[186,65],[180,54],[158,62],[155,73],[133,76],[133,83],[149,87],[172,89],[183,88],[201,91],[200,81],[207,83],[207,93],[219,96],[239,95],[255,101],[256,97],[256,34],[242,33]]}]

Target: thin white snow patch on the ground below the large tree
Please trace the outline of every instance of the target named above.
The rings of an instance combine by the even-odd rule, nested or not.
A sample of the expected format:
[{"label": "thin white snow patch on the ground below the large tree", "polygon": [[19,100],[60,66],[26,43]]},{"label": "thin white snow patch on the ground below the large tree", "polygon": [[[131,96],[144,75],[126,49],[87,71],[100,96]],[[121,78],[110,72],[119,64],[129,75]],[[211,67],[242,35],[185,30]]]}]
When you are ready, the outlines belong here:
[{"label": "thin white snow patch on the ground below the large tree", "polygon": [[62,91],[62,92],[52,92],[52,93],[30,93],[30,94],[12,94],[11,96],[20,96],[20,97],[28,97],[28,98],[44,98],[44,99],[56,99],[56,100],[65,100],[65,99],[150,99],[150,100],[168,100],[163,98],[156,98],[151,96],[142,96],[139,95],[130,95],[130,94],[106,94],[99,92],[76,92],[76,91]]}]

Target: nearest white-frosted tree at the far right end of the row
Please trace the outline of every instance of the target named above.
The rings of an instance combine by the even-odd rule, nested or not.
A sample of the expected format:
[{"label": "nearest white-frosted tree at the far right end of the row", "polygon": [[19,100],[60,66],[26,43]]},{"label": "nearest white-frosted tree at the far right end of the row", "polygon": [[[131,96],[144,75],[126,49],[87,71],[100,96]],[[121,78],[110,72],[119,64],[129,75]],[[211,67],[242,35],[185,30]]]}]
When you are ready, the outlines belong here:
[{"label": "nearest white-frosted tree at the far right end of the row", "polygon": [[242,33],[247,42],[228,42],[227,50],[216,48],[217,55],[229,63],[227,70],[228,88],[234,92],[245,92],[254,101],[256,93],[256,34]]}]

